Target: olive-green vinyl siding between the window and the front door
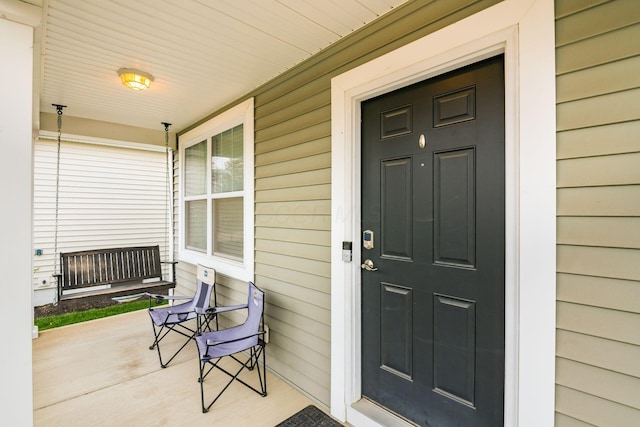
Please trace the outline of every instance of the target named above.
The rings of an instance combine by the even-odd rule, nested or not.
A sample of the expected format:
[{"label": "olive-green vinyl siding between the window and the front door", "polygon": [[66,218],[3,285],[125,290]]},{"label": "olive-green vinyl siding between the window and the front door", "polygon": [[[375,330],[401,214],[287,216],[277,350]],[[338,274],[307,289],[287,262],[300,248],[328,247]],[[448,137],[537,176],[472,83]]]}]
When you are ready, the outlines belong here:
[{"label": "olive-green vinyl siding between the window and the front door", "polygon": [[[331,388],[331,78],[498,2],[407,2],[247,94],[255,99],[255,282],[266,292],[267,363],[320,404],[329,405]],[[242,301],[242,284],[219,282],[223,301]]]}]

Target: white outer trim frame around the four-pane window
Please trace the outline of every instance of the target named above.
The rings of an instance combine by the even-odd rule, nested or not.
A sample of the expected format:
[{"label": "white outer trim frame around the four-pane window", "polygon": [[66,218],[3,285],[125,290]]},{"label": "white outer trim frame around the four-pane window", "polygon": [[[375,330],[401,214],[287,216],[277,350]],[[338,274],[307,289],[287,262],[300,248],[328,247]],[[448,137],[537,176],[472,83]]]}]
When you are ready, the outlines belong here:
[{"label": "white outer trim frame around the four-pane window", "polygon": [[[179,171],[180,187],[179,199],[179,251],[178,259],[191,264],[203,264],[216,269],[225,276],[243,281],[253,280],[254,269],[254,100],[250,98],[207,122],[180,135],[179,143]],[[207,255],[186,248],[185,212],[184,212],[184,153],[185,148],[210,138],[213,135],[228,130],[234,126],[244,124],[244,253],[243,261],[233,261],[227,258]],[[209,211],[209,210],[207,210]],[[209,221],[210,223],[210,221]],[[209,227],[210,225],[208,225]],[[207,236],[210,239],[211,236]]]}]

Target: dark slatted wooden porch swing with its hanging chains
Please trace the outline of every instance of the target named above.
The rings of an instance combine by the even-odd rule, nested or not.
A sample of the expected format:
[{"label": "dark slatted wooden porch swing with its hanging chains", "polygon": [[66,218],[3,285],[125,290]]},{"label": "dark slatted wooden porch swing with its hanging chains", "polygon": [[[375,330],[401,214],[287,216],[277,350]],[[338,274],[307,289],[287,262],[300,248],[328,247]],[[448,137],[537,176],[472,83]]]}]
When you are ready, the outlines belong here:
[{"label": "dark slatted wooden porch swing with its hanging chains", "polygon": [[[60,252],[60,270],[58,270],[58,227],[60,205],[60,152],[62,138],[62,109],[65,105],[52,104],[58,114],[58,141],[56,159],[56,194],[54,220],[54,273],[57,283],[55,304],[73,306],[90,303],[93,306],[110,305],[118,298],[136,292],[166,292],[175,288],[174,261],[162,261],[160,245],[131,246],[118,248],[98,248],[74,252]],[[167,205],[169,200],[169,126],[162,123],[165,130],[166,175],[165,188]],[[168,230],[169,219],[165,219]],[[165,246],[169,248],[168,233],[165,233]],[[171,280],[162,274],[162,265],[170,265]],[[122,301],[118,301],[122,302]]]}]

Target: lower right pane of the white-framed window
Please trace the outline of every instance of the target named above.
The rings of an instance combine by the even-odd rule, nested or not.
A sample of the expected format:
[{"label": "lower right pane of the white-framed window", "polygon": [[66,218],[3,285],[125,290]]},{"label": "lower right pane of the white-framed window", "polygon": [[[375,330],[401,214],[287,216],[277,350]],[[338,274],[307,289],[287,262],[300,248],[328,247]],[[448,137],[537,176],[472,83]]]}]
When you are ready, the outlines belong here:
[{"label": "lower right pane of the white-framed window", "polygon": [[215,255],[243,258],[243,199],[213,201],[213,252]]}]

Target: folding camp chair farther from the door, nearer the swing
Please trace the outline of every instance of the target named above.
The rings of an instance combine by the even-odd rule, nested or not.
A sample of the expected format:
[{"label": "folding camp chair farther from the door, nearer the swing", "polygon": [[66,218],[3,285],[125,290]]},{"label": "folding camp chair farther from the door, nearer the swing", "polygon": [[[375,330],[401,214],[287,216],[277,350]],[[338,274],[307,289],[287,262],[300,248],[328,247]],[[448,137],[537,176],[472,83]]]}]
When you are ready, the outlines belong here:
[{"label": "folding camp chair farther from the door, nearer the swing", "polygon": [[[149,316],[151,317],[154,336],[153,344],[151,344],[149,350],[153,350],[154,348],[158,350],[160,366],[163,368],[166,368],[196,335],[200,334],[203,330],[211,330],[211,322],[214,319],[217,326],[216,313],[214,311],[207,312],[207,310],[211,308],[212,293],[214,300],[213,307],[215,307],[216,304],[216,271],[213,268],[198,265],[196,283],[196,294],[192,297],[146,294],[149,297]],[[158,302],[185,299],[188,301],[169,307],[152,308],[152,299],[156,299]],[[169,332],[176,332],[187,339],[182,346],[173,353],[169,360],[163,362],[160,342]]]}]

